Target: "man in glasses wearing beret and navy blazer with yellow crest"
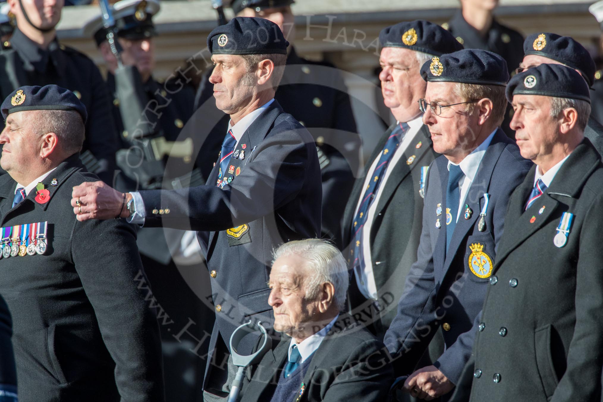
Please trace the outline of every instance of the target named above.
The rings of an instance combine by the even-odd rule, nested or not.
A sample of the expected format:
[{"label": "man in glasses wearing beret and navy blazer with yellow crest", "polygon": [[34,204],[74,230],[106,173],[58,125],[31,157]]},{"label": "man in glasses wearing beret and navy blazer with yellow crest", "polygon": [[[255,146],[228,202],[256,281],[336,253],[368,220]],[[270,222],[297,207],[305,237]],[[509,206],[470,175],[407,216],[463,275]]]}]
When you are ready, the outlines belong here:
[{"label": "man in glasses wearing beret and navy blazer with yellow crest", "polygon": [[[499,127],[509,78],[502,57],[464,49],[427,61],[421,77],[423,122],[443,155],[429,168],[417,262],[384,343],[396,375],[409,375],[403,390],[432,399],[452,390],[469,360],[507,201],[531,163]],[[444,353],[414,371],[440,327]]]}]

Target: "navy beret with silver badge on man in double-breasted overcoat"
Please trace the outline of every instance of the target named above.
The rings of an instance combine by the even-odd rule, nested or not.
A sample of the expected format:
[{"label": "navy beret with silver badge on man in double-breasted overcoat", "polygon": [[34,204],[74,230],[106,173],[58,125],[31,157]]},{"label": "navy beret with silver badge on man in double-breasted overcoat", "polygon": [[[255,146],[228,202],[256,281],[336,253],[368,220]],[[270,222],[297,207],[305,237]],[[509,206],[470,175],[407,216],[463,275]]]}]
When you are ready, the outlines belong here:
[{"label": "navy beret with silver badge on man in double-breasted overcoat", "polygon": [[542,95],[590,103],[590,90],[584,78],[575,69],[561,64],[540,64],[514,75],[505,95],[509,102],[513,101],[513,95]]}]

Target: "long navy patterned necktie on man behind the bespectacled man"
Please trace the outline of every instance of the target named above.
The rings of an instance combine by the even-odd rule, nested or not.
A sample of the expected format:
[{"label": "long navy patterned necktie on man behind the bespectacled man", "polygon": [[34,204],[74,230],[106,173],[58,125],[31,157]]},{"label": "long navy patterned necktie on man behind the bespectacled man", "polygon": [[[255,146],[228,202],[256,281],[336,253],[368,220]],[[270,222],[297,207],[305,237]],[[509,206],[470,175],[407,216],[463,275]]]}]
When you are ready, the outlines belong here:
[{"label": "long navy patterned necktie on man behind the bespectacled man", "polygon": [[385,171],[387,171],[387,167],[390,164],[390,160],[394,153],[396,153],[396,148],[400,145],[400,142],[402,142],[406,131],[408,131],[408,124],[406,123],[398,124],[396,128],[391,131],[390,137],[383,147],[381,157],[373,172],[373,180],[368,182],[367,189],[364,191],[364,195],[362,195],[360,207],[358,207],[358,212],[356,212],[356,216],[354,217],[354,223],[352,225],[352,239],[354,243],[350,250],[350,260],[353,260],[352,268],[356,271],[358,278],[362,278],[362,272],[364,271],[365,266],[364,255],[362,253],[362,228],[367,220],[368,208],[371,206],[373,199],[377,195],[381,179],[384,177]]}]

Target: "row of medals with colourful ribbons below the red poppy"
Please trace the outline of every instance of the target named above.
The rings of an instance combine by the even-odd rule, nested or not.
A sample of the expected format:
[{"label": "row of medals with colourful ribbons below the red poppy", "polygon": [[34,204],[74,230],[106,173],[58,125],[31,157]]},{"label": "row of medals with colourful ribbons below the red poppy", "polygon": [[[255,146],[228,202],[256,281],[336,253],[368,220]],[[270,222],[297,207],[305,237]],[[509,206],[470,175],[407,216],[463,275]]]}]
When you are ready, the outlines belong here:
[{"label": "row of medals with colourful ribbons below the red poppy", "polygon": [[2,257],[25,257],[46,253],[48,222],[15,225],[1,228]]}]

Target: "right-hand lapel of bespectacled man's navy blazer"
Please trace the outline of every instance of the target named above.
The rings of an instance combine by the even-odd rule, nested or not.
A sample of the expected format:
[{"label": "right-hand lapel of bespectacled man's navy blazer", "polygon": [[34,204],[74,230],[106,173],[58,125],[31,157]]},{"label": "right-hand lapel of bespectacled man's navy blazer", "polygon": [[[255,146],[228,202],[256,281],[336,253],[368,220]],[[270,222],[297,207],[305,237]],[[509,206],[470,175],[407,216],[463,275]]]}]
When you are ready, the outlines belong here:
[{"label": "right-hand lapel of bespectacled man's navy blazer", "polygon": [[[464,204],[459,204],[458,206],[461,210],[461,215],[459,215],[454,232],[452,233],[452,239],[450,239],[450,245],[448,247],[449,253],[446,254],[446,261],[444,262],[444,272],[450,267],[450,263],[452,263],[456,253],[464,253],[464,250],[458,250],[458,248],[461,247],[461,242],[463,242],[463,239],[467,236],[467,233],[473,228],[473,225],[478,219],[481,204],[484,199],[484,193],[487,193],[488,188],[490,187],[490,179],[494,172],[494,166],[496,166],[505,146],[508,145],[501,141],[501,136],[505,136],[505,134],[499,128],[494,134],[490,145],[486,148],[484,156],[479,163],[478,171],[473,178],[471,187],[469,187]],[[464,216],[464,211],[466,209],[465,205],[469,206],[473,211],[469,219],[465,219]],[[453,217],[453,219],[454,218],[455,217]]]}]

